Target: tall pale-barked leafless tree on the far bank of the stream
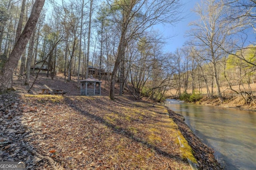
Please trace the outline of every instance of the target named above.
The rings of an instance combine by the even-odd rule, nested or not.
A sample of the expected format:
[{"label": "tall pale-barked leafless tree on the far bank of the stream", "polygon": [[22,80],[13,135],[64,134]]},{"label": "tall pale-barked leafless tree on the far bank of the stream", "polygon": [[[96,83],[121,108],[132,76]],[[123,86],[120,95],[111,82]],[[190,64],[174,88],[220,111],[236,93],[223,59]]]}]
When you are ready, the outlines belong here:
[{"label": "tall pale-barked leafless tree on the far bank of the stream", "polygon": [[225,9],[221,3],[215,0],[207,0],[202,6],[198,4],[195,12],[200,16],[200,21],[190,24],[194,28],[188,34],[194,38],[194,45],[204,51],[202,53],[204,56],[200,57],[212,63],[217,96],[220,102],[223,102],[224,99],[218,80],[218,64],[223,57],[222,47],[225,45],[230,32],[225,29],[227,23],[222,20]]}]

